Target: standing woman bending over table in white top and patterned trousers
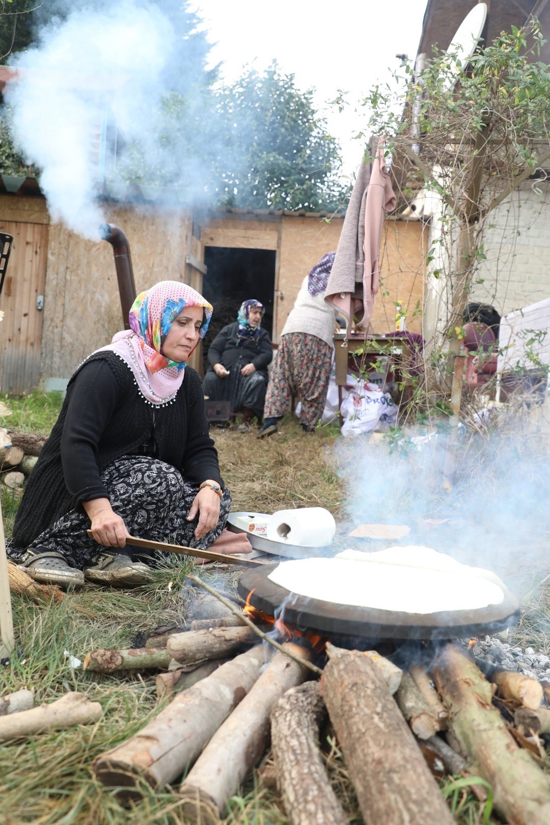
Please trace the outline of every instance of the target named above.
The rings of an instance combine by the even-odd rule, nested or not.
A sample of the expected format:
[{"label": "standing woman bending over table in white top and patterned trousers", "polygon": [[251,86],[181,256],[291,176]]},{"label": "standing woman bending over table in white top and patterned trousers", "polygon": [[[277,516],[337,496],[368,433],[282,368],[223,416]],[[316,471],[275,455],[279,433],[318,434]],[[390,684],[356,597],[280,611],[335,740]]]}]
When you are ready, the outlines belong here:
[{"label": "standing woman bending over table in white top and patterned trousers", "polygon": [[323,255],[302,281],[280,333],[279,350],[267,387],[264,424],[258,438],[272,436],[277,431],[277,422],[288,413],[292,396],[298,392],[303,431],[313,432],[322,416],[336,327],[336,310],[327,304],[324,296],[335,256],[336,252]]}]

